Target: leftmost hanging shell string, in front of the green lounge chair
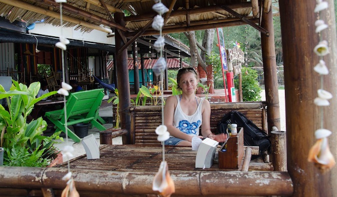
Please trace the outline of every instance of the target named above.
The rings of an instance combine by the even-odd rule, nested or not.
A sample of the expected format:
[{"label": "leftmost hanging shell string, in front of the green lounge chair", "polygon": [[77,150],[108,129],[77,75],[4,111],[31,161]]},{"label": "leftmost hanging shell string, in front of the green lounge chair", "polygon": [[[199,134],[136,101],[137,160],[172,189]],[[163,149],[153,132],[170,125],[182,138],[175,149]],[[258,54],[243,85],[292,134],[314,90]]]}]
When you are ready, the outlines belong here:
[{"label": "leftmost hanging shell string, in front of the green lounge chair", "polygon": [[[60,3],[60,26],[63,26],[63,20],[62,20],[62,3],[66,2],[66,0],[55,0],[55,2]],[[64,73],[64,51],[67,50],[67,44],[69,44],[70,41],[63,36],[63,31],[61,28],[61,36],[59,37],[59,42],[55,44],[56,47],[61,49],[61,55],[62,55],[62,77],[65,79],[65,73]],[[66,114],[66,96],[69,95],[69,90],[72,89],[72,87],[65,83],[61,83],[62,88],[60,88],[57,93],[63,95],[63,110],[64,110],[64,127],[65,130],[65,141],[66,144],[68,144],[68,125],[67,125],[67,114]],[[72,146],[65,146],[62,151],[62,155],[64,158],[68,159],[68,173],[62,178],[63,181],[67,181],[66,187],[62,191],[61,197],[79,197],[79,194],[75,188],[75,181],[72,178],[72,173],[70,172],[70,164],[69,159],[73,157],[72,152],[74,151],[74,148]]]}]

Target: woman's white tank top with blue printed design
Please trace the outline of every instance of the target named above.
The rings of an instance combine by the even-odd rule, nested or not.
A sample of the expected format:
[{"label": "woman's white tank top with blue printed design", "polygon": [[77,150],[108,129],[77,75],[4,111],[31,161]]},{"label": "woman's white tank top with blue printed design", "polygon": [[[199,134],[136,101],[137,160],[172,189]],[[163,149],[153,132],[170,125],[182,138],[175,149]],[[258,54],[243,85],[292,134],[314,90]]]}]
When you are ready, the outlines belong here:
[{"label": "woman's white tank top with blue printed design", "polygon": [[200,99],[198,103],[198,108],[196,112],[188,116],[186,115],[180,107],[180,98],[179,95],[176,95],[178,104],[176,109],[174,110],[173,117],[173,126],[178,128],[180,131],[188,134],[188,135],[199,135],[199,127],[202,124],[202,103],[203,98]]}]

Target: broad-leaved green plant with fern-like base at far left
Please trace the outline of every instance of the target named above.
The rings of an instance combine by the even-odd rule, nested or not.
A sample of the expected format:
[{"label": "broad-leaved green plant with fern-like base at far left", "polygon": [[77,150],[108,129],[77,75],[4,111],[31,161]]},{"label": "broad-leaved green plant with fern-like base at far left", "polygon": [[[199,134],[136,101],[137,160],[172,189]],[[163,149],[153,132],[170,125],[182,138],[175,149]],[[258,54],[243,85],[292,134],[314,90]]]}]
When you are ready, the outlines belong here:
[{"label": "broad-leaved green plant with fern-like base at far left", "polygon": [[5,98],[8,111],[0,105],[0,143],[4,149],[3,164],[7,166],[45,167],[59,152],[53,142],[60,132],[52,136],[43,136],[47,124],[41,118],[27,123],[27,116],[34,104],[43,98],[54,95],[52,91],[35,98],[40,83],[34,82],[27,87],[13,81],[9,91],[0,85],[0,99]]}]

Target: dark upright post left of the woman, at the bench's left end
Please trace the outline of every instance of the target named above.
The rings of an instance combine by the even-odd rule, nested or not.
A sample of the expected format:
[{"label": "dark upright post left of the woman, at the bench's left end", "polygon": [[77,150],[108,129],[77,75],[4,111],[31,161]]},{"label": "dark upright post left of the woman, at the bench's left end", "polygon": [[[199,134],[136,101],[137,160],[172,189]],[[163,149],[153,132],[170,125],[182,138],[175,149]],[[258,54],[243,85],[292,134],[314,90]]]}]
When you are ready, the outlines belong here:
[{"label": "dark upright post left of the woman, at the bench's left end", "polygon": [[[124,13],[115,13],[115,21],[125,26],[125,21],[123,20]],[[129,131],[127,135],[123,136],[123,144],[130,144],[130,115],[127,113],[127,109],[131,106],[130,102],[130,82],[129,82],[129,71],[127,66],[127,48],[123,51],[119,51],[125,43],[123,40],[126,38],[121,34],[120,31],[116,31],[115,40],[116,40],[116,51],[120,55],[116,57],[115,66],[118,70],[118,93],[119,93],[119,111],[120,111],[120,125],[122,129]]]}]

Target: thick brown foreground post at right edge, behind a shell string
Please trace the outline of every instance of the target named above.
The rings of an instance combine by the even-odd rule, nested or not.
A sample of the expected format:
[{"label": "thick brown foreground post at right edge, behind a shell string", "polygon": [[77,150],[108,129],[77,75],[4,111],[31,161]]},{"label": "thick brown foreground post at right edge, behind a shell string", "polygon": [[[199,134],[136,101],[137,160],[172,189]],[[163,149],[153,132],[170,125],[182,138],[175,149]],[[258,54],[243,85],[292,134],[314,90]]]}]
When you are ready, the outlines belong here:
[{"label": "thick brown foreground post at right edge, behind a shell string", "polygon": [[[322,174],[308,162],[310,148],[316,142],[315,131],[321,128],[333,131],[329,137],[330,150],[337,158],[337,41],[334,0],[326,0],[328,9],[314,13],[317,1],[280,0],[282,47],[285,68],[287,162],[294,183],[294,197],[337,197],[337,167]],[[321,123],[320,107],[314,105],[321,77],[314,71],[320,57],[314,47],[320,38],[315,32],[315,21],[320,18],[329,27],[322,37],[329,43],[330,54],[323,57],[329,68],[324,75],[324,88],[334,95],[330,106],[324,107]]]}]

